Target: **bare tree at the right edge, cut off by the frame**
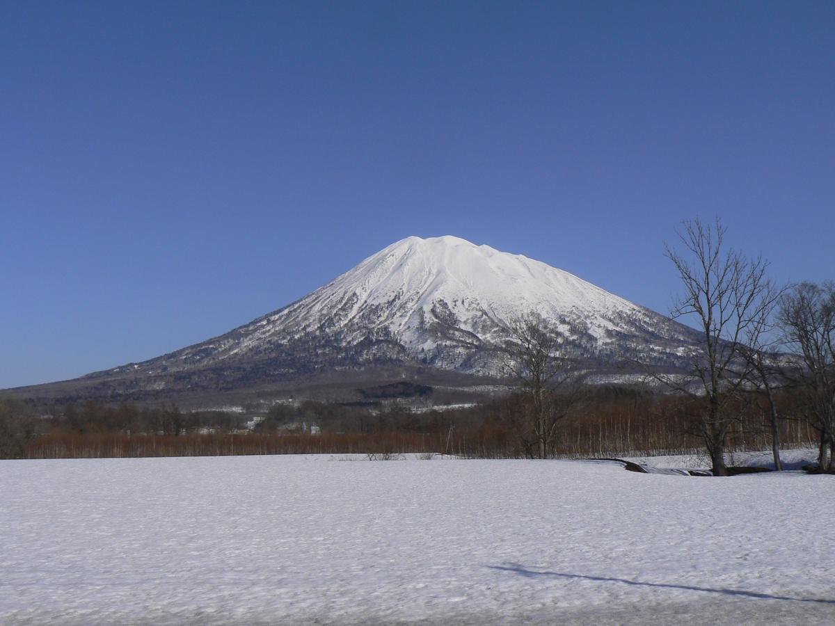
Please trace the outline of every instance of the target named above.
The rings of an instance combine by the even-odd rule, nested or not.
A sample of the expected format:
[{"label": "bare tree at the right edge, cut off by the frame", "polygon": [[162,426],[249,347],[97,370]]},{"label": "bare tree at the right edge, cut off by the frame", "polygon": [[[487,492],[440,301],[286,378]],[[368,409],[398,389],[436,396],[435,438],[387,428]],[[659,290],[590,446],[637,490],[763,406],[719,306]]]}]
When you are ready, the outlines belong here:
[{"label": "bare tree at the right edge, cut off by the frame", "polygon": [[[803,282],[780,300],[777,321],[799,364],[787,377],[801,391],[812,426],[821,433],[817,462],[835,467],[835,283]],[[828,449],[827,449],[828,448]]]}]

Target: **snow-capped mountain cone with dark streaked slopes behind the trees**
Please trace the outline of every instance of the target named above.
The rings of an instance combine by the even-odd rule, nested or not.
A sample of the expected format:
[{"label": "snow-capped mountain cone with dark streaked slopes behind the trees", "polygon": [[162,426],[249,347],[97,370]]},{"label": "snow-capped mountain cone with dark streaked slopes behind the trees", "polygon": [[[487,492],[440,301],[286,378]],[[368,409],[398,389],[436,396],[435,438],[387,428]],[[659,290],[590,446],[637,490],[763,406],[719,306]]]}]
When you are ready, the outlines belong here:
[{"label": "snow-capped mountain cone with dark streaked slopes behind the trees", "polygon": [[386,367],[495,377],[509,325],[531,312],[554,324],[566,351],[598,367],[675,365],[694,332],[523,255],[449,235],[407,237],[225,335],[78,381],[99,389],[94,396],[142,398]]}]

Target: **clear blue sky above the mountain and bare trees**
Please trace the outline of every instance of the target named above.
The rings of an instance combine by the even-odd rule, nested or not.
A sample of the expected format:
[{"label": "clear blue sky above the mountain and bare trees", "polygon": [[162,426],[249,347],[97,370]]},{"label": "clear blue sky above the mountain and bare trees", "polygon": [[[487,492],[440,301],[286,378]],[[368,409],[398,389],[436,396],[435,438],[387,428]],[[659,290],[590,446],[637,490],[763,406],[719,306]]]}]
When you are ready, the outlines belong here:
[{"label": "clear blue sky above the mountain and bare trees", "polygon": [[835,3],[3,2],[0,387],[141,361],[407,235],[666,312],[721,215],[835,278]]}]

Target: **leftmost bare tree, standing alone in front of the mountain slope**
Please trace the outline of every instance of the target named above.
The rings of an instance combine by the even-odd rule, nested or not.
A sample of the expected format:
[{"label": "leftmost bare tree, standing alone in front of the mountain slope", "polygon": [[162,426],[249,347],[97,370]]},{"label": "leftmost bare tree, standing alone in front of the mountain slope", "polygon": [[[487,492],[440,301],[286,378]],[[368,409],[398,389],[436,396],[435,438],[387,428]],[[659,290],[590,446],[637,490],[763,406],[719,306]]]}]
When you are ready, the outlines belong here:
[{"label": "leftmost bare tree, standing alone in front of the mountain slope", "polygon": [[562,355],[559,331],[538,313],[509,325],[504,371],[519,382],[533,406],[534,445],[539,458],[553,450],[557,423],[579,396],[581,373]]}]

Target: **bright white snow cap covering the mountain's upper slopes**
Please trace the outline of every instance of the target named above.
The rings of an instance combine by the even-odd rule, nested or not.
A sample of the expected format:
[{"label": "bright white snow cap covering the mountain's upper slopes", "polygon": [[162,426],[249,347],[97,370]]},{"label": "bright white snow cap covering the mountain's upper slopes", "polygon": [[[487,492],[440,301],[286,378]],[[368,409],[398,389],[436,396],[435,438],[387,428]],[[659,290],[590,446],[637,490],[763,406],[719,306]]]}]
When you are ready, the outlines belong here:
[{"label": "bright white snow cap covering the mountain's upper slopes", "polygon": [[271,321],[315,328],[340,310],[345,326],[371,309],[378,311],[377,327],[386,327],[403,345],[431,348],[423,320],[442,301],[462,328],[477,335],[485,315],[500,327],[530,311],[549,319],[576,316],[602,338],[615,328],[611,316],[645,314],[643,307],[564,270],[445,235],[397,241]]}]

